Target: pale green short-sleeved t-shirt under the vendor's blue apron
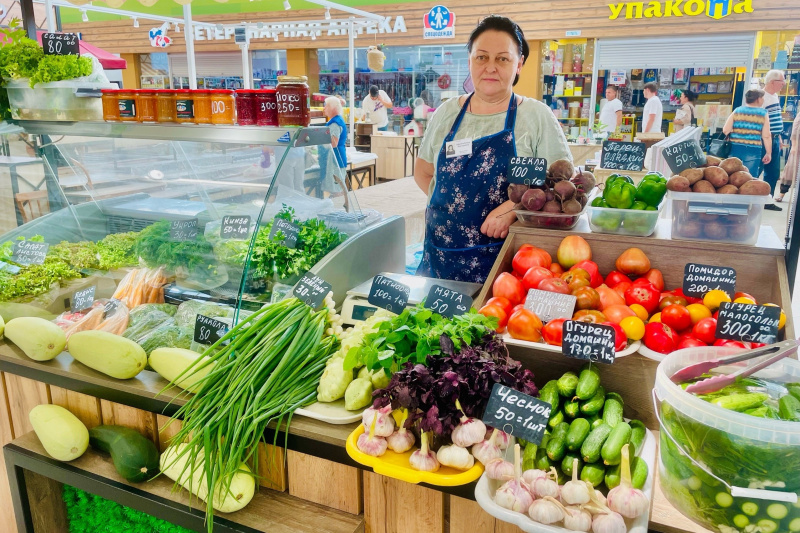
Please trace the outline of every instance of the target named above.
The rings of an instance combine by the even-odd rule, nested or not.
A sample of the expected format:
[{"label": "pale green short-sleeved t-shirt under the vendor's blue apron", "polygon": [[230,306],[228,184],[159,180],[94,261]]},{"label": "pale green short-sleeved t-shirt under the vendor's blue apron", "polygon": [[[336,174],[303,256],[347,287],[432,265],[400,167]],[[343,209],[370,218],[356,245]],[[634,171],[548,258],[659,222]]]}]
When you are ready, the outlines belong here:
[{"label": "pale green short-sleeved t-shirt under the vendor's blue apron", "polygon": [[[428,192],[430,198],[433,184],[436,183],[436,162],[442,149],[444,138],[450,132],[461,106],[459,98],[453,98],[442,104],[428,122],[425,137],[419,150],[419,157],[433,164],[433,180]],[[455,135],[458,139],[480,139],[498,133],[505,127],[506,112],[493,115],[473,115],[469,111],[461,120]],[[533,98],[524,98],[517,107],[517,121],[514,124],[514,138],[517,143],[517,155],[520,157],[543,157],[548,164],[558,159],[572,161],[572,153],[567,145],[564,131],[549,107]]]}]

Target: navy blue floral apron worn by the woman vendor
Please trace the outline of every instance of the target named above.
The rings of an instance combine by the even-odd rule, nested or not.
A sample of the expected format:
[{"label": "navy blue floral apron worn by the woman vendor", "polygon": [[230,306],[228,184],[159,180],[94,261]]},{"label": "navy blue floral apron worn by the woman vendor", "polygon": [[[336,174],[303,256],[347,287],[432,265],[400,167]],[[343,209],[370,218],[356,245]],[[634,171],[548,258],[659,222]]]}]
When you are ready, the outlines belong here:
[{"label": "navy blue floral apron worn by the woman vendor", "polygon": [[439,150],[417,274],[483,283],[503,245],[503,240],[481,233],[481,225],[492,210],[508,201],[506,171],[509,160],[517,155],[517,97],[511,95],[502,131],[473,140],[472,154],[448,159],[447,143],[455,138],[471,99],[472,95],[464,102]]}]

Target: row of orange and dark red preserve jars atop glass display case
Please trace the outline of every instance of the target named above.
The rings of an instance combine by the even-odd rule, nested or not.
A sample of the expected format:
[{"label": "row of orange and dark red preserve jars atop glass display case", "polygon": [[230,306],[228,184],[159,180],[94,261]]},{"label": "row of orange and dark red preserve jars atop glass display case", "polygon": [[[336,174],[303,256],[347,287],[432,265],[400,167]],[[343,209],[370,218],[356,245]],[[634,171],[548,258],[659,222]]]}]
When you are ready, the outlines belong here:
[{"label": "row of orange and dark red preserve jars atop glass display case", "polygon": [[306,78],[280,76],[277,89],[106,89],[106,122],[308,126]]}]

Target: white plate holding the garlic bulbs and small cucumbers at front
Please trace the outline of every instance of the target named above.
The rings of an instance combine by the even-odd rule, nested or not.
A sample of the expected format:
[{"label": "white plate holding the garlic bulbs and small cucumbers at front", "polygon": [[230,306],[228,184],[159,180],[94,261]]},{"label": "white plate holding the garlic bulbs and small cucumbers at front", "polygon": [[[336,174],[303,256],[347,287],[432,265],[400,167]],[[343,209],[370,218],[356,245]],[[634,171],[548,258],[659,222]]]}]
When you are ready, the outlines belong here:
[{"label": "white plate holding the garlic bulbs and small cucumbers at front", "polygon": [[[510,449],[510,448],[509,448]],[[656,472],[656,438],[647,430],[647,436],[645,437],[644,446],[642,447],[642,453],[639,455],[644,462],[647,463],[647,481],[644,484],[644,488],[642,489],[645,496],[652,502],[653,501],[653,481],[655,479],[655,472]],[[502,520],[503,522],[509,522],[511,524],[516,525],[522,531],[526,533],[569,533],[570,530],[563,528],[561,526],[554,526],[554,525],[545,525],[540,524],[539,522],[534,522],[531,520],[527,514],[517,513],[516,511],[511,511],[509,509],[505,509],[500,507],[496,503],[494,503],[494,489],[492,488],[492,484],[495,483],[493,480],[486,477],[486,474],[483,474],[481,478],[478,480],[478,484],[475,487],[475,500],[477,500],[478,505],[480,505],[484,511],[492,515],[493,517]],[[647,513],[644,513],[639,518],[634,520],[626,519],[625,523],[628,525],[628,533],[647,533],[647,526],[650,523],[650,513],[649,509]]]}]

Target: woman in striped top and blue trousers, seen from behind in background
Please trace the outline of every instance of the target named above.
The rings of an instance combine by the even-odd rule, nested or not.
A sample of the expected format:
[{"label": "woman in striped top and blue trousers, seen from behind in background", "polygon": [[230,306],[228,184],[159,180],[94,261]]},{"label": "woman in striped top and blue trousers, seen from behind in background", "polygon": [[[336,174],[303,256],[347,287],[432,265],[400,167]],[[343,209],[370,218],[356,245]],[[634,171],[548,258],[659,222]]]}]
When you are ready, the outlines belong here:
[{"label": "woman in striped top and blue trousers, seen from behind in background", "polygon": [[[730,135],[730,157],[738,157],[750,171],[750,175],[758,178],[761,164],[772,159],[772,137],[769,133],[769,117],[761,108],[764,91],[750,89],[744,95],[745,105],[737,107],[728,117],[722,132]],[[766,151],[766,153],[765,153]],[[762,154],[763,157],[762,157]]]}]

